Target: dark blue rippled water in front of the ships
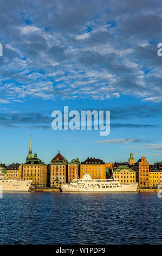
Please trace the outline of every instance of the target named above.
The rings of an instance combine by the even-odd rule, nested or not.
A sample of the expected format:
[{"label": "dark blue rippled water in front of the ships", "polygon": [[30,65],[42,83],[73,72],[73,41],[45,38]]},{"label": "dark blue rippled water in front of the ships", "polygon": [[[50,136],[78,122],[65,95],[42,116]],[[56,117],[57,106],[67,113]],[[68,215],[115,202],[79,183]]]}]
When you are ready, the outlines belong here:
[{"label": "dark blue rippled water in front of the ships", "polygon": [[161,243],[157,193],[3,193],[1,244]]}]

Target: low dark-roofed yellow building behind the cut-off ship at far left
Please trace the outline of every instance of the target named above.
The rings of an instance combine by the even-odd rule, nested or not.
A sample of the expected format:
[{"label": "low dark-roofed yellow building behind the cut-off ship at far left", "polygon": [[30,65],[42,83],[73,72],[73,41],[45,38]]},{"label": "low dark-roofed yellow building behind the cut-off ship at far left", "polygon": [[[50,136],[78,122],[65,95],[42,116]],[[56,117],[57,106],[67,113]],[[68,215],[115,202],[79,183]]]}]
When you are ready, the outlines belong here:
[{"label": "low dark-roofed yellow building behind the cut-off ship at far left", "polygon": [[12,163],[6,169],[7,179],[22,179],[22,164]]}]

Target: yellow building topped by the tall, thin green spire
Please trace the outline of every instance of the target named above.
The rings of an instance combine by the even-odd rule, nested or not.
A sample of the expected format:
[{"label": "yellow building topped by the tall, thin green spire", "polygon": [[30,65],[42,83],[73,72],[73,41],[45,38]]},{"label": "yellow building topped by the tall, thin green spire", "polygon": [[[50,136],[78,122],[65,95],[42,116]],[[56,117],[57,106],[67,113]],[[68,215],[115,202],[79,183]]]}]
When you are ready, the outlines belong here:
[{"label": "yellow building topped by the tall, thin green spire", "polygon": [[23,164],[22,179],[33,180],[32,184],[39,187],[45,187],[47,185],[47,165],[38,159],[36,153],[33,156],[31,138],[27,161]]}]

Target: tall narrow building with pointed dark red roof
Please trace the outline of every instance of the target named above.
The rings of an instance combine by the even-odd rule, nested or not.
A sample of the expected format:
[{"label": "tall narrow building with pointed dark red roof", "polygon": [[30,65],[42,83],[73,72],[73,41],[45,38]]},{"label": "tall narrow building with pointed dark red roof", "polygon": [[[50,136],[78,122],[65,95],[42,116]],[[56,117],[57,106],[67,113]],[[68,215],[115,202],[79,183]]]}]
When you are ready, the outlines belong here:
[{"label": "tall narrow building with pointed dark red roof", "polygon": [[68,181],[68,161],[59,153],[50,162],[50,186],[61,187]]}]

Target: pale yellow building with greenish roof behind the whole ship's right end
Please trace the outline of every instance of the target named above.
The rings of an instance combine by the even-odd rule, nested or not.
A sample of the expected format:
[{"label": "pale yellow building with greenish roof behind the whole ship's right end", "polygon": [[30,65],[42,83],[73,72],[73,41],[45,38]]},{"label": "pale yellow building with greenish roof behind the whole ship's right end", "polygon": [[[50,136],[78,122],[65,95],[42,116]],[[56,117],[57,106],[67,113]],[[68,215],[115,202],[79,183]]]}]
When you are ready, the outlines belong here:
[{"label": "pale yellow building with greenish roof behind the whole ship's right end", "polygon": [[135,170],[132,170],[128,166],[118,166],[113,173],[114,179],[118,179],[121,184],[136,182]]}]

